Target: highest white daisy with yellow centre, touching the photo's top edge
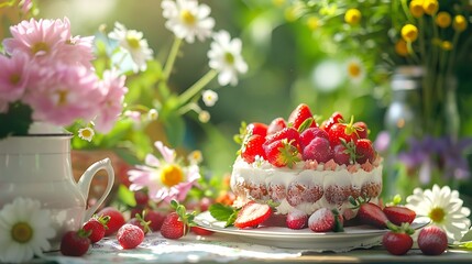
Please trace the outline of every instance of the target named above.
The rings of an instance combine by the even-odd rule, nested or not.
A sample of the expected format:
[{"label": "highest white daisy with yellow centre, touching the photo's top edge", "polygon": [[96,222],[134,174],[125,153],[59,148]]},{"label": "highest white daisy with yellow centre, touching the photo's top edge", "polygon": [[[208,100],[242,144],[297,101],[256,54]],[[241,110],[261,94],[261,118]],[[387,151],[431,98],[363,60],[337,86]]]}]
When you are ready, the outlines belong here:
[{"label": "highest white daisy with yellow centre, touching the photo's top edge", "polygon": [[211,9],[207,4],[198,4],[196,0],[164,0],[161,3],[163,16],[167,19],[165,26],[178,38],[194,43],[211,35],[215,20],[209,16]]}]

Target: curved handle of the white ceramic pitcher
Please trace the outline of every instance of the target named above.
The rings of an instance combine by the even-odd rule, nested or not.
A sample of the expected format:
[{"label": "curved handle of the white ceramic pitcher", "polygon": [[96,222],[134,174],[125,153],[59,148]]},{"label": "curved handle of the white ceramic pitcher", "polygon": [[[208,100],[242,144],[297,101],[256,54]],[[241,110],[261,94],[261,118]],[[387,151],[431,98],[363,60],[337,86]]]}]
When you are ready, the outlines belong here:
[{"label": "curved handle of the white ceramic pitcher", "polygon": [[113,187],[113,183],[114,183],[114,170],[113,167],[111,166],[111,161],[110,158],[103,158],[99,162],[94,163],[90,167],[87,168],[87,170],[85,170],[85,173],[80,176],[79,182],[77,183],[78,188],[80,190],[80,193],[83,194],[83,196],[85,197],[85,199],[88,199],[88,193],[90,190],[90,184],[91,180],[94,178],[94,176],[100,170],[100,169],[105,169],[107,172],[108,175],[108,182],[107,182],[107,188],[105,189],[103,194],[101,195],[100,199],[97,200],[97,202],[95,202],[94,206],[91,206],[90,208],[88,208],[85,211],[84,215],[84,219],[83,222],[87,221],[88,219],[90,219],[94,215],[95,211],[97,211],[98,207],[101,206],[101,204],[103,202],[103,200],[107,198],[107,196],[110,194],[111,188]]}]

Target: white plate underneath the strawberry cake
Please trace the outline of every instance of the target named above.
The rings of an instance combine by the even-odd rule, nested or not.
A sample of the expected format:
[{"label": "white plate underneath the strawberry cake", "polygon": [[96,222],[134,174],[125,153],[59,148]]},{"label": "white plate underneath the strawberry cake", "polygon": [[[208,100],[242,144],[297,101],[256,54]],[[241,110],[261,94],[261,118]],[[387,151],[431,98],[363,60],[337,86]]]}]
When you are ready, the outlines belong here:
[{"label": "white plate underneath the strawberry cake", "polygon": [[[354,249],[369,249],[380,245],[382,237],[388,230],[375,229],[370,226],[345,227],[344,232],[315,233],[310,229],[292,230],[282,227],[260,227],[256,229],[224,228],[224,222],[217,221],[209,211],[195,218],[195,222],[204,229],[234,235],[238,239],[263,245],[286,249],[301,249],[316,252],[348,252]],[[428,224],[428,219],[417,218],[411,228],[419,229]]]}]

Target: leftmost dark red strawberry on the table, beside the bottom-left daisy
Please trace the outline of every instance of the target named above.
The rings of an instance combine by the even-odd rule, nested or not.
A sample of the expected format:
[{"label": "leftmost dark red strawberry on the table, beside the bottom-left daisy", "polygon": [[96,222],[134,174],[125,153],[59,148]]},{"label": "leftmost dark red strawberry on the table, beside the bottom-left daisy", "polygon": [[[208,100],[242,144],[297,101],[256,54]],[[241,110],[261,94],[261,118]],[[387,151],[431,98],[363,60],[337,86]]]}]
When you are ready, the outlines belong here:
[{"label": "leftmost dark red strawberry on the table, beside the bottom-left daisy", "polygon": [[85,231],[84,229],[67,231],[61,240],[61,253],[67,256],[84,255],[90,246],[89,234],[90,231]]}]

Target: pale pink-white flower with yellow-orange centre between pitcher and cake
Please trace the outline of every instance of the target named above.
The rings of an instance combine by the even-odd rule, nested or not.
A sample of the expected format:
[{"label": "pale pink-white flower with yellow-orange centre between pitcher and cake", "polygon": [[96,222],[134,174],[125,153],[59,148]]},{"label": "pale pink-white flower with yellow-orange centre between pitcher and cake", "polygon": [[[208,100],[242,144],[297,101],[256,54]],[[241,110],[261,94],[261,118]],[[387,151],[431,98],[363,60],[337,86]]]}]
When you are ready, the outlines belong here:
[{"label": "pale pink-white flower with yellow-orange centre between pitcher and cake", "polygon": [[157,201],[184,200],[195,182],[200,178],[199,167],[179,165],[176,162],[175,151],[166,147],[161,141],[155,142],[154,145],[163,158],[147,154],[146,165],[129,170],[132,182],[130,189],[147,188],[150,197]]}]

